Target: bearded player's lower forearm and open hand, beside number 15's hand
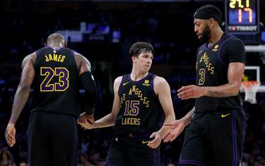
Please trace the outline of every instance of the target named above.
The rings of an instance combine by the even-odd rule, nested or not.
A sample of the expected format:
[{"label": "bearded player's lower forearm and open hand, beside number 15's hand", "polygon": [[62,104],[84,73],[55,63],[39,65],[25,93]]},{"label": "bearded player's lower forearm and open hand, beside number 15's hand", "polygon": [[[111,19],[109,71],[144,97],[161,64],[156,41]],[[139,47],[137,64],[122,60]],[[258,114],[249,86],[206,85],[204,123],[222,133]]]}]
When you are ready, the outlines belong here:
[{"label": "bearded player's lower forearm and open hand, beside number 15's hand", "polygon": [[165,126],[170,126],[170,130],[167,131],[167,134],[163,138],[165,143],[168,141],[174,141],[175,138],[177,138],[177,136],[182,133],[185,126],[187,126],[191,122],[194,110],[195,107],[193,107],[184,117],[182,117],[182,119],[178,119],[170,123],[164,124]]}]

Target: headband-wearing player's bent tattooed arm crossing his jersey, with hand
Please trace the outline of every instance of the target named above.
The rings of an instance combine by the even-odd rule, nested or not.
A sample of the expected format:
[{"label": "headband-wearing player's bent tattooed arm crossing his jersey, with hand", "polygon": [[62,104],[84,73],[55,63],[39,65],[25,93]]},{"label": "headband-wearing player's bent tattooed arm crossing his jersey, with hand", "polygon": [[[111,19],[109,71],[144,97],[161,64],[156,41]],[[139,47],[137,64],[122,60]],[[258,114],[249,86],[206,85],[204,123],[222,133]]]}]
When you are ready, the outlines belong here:
[{"label": "headband-wearing player's bent tattooed arm crossing his jersey, with hand", "polygon": [[245,64],[240,62],[230,63],[228,66],[228,83],[220,86],[183,86],[178,92],[179,98],[182,100],[189,98],[198,98],[201,96],[210,97],[229,97],[237,95],[240,90],[242,76],[245,70]]}]

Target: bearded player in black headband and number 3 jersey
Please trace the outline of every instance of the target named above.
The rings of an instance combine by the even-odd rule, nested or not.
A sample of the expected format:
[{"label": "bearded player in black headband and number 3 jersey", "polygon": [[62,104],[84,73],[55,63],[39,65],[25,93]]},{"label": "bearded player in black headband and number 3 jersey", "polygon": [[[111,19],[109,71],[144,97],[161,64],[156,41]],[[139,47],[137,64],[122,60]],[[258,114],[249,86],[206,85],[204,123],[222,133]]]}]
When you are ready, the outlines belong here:
[{"label": "bearded player in black headband and number 3 jersey", "polygon": [[179,165],[240,165],[245,136],[245,114],[240,84],[245,69],[245,47],[219,27],[221,13],[206,5],[194,13],[194,31],[204,41],[197,51],[196,85],[178,90],[182,100],[196,98],[195,108],[176,120],[164,141],[173,141],[187,127]]}]

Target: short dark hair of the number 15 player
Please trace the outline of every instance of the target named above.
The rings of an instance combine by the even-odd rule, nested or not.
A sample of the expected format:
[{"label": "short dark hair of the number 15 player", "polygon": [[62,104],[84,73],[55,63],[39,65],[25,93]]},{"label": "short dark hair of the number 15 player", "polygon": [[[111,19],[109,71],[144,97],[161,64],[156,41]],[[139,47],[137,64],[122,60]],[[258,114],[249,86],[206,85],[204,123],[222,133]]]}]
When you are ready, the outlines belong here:
[{"label": "short dark hair of the number 15 player", "polygon": [[130,57],[138,57],[141,53],[151,52],[154,54],[153,46],[148,42],[135,42],[134,45],[131,46],[129,55]]}]

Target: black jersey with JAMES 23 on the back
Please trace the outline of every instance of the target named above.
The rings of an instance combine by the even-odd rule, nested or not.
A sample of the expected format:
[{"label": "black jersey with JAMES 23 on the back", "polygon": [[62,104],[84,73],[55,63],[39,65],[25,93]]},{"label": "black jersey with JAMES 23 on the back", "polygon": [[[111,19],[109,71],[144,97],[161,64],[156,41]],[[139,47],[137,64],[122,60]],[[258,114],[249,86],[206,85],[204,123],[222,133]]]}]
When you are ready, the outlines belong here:
[{"label": "black jersey with JAMES 23 on the back", "polygon": [[57,112],[78,117],[78,70],[73,50],[44,47],[36,54],[32,112]]}]

